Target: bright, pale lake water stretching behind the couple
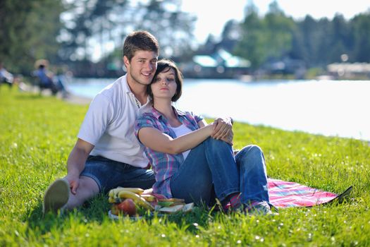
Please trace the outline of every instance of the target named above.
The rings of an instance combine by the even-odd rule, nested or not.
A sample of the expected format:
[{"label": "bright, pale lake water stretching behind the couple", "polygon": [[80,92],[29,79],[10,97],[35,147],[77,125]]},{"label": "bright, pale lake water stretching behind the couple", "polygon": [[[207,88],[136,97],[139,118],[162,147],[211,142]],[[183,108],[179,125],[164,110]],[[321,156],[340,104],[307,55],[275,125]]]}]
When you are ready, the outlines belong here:
[{"label": "bright, pale lake water stretching behind the couple", "polygon": [[[75,95],[94,97],[113,79],[76,79]],[[370,81],[185,79],[179,109],[288,131],[370,140]]]}]

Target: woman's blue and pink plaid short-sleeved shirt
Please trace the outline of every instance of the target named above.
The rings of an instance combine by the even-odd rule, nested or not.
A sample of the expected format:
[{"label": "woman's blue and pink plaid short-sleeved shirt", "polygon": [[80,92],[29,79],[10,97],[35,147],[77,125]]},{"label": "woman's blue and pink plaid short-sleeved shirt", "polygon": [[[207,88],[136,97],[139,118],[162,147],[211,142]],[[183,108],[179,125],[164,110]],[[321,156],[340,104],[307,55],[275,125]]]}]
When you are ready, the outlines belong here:
[{"label": "woman's blue and pink plaid short-sleeved shirt", "polygon": [[[195,116],[192,112],[180,112],[173,107],[173,112],[178,116],[178,120],[183,123],[191,131],[199,128],[198,122],[202,121],[201,116]],[[174,131],[167,122],[167,119],[162,116],[160,112],[152,107],[150,112],[145,112],[135,122],[135,135],[140,128],[152,127],[156,128],[162,133],[170,135],[171,138],[176,138]],[[156,176],[156,182],[153,185],[153,192],[165,195],[167,198],[172,198],[170,180],[171,176],[178,171],[181,164],[184,162],[183,155],[166,154],[163,152],[156,152],[149,147],[144,147],[145,155],[152,164],[152,169]]]}]

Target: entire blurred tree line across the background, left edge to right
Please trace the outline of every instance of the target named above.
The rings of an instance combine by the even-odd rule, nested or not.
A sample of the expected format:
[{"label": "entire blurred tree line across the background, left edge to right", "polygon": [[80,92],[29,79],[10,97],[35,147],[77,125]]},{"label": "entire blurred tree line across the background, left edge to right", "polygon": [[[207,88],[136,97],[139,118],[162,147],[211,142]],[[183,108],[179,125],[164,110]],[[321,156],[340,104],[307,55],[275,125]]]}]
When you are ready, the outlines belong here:
[{"label": "entire blurred tree line across the background, left edge to right", "polygon": [[221,40],[210,36],[199,46],[193,35],[196,17],[181,11],[180,4],[180,0],[1,0],[0,60],[9,71],[25,75],[44,58],[82,71],[101,69],[104,74],[119,66],[125,35],[144,29],[158,38],[161,56],[175,61],[189,61],[195,54],[221,47],[251,61],[252,70],[286,58],[304,61],[308,68],[320,67],[343,61],[343,54],[348,62],[370,62],[369,10],[349,20],[340,13],[331,20],[309,15],[295,20],[276,1],[264,16],[249,3],[240,23],[225,24]]}]

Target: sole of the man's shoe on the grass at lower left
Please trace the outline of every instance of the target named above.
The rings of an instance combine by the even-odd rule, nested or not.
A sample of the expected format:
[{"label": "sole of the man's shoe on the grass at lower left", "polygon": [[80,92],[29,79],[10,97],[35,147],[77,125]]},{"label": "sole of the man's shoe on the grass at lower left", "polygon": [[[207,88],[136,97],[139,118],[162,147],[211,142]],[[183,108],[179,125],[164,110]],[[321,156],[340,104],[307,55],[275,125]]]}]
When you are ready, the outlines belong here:
[{"label": "sole of the man's shoe on the grass at lower left", "polygon": [[56,179],[56,181],[51,183],[44,195],[44,202],[42,203],[43,215],[48,212],[58,213],[58,210],[68,202],[69,191],[69,183],[66,179]]}]

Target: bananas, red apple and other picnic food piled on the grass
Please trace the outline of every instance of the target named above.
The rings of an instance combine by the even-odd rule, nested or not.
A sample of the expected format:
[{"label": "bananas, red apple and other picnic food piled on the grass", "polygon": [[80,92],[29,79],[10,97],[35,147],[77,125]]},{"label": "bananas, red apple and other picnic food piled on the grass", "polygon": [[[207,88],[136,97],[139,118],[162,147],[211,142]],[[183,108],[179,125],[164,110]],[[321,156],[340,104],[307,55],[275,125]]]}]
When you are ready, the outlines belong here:
[{"label": "bananas, red apple and other picnic food piled on the grass", "polygon": [[[109,191],[109,203],[112,203],[113,215],[137,215],[137,212],[159,211],[163,213],[188,212],[193,204],[185,205],[183,199],[166,198],[164,195],[144,191],[142,188],[113,188]],[[140,210],[137,210],[140,209]]]}]

